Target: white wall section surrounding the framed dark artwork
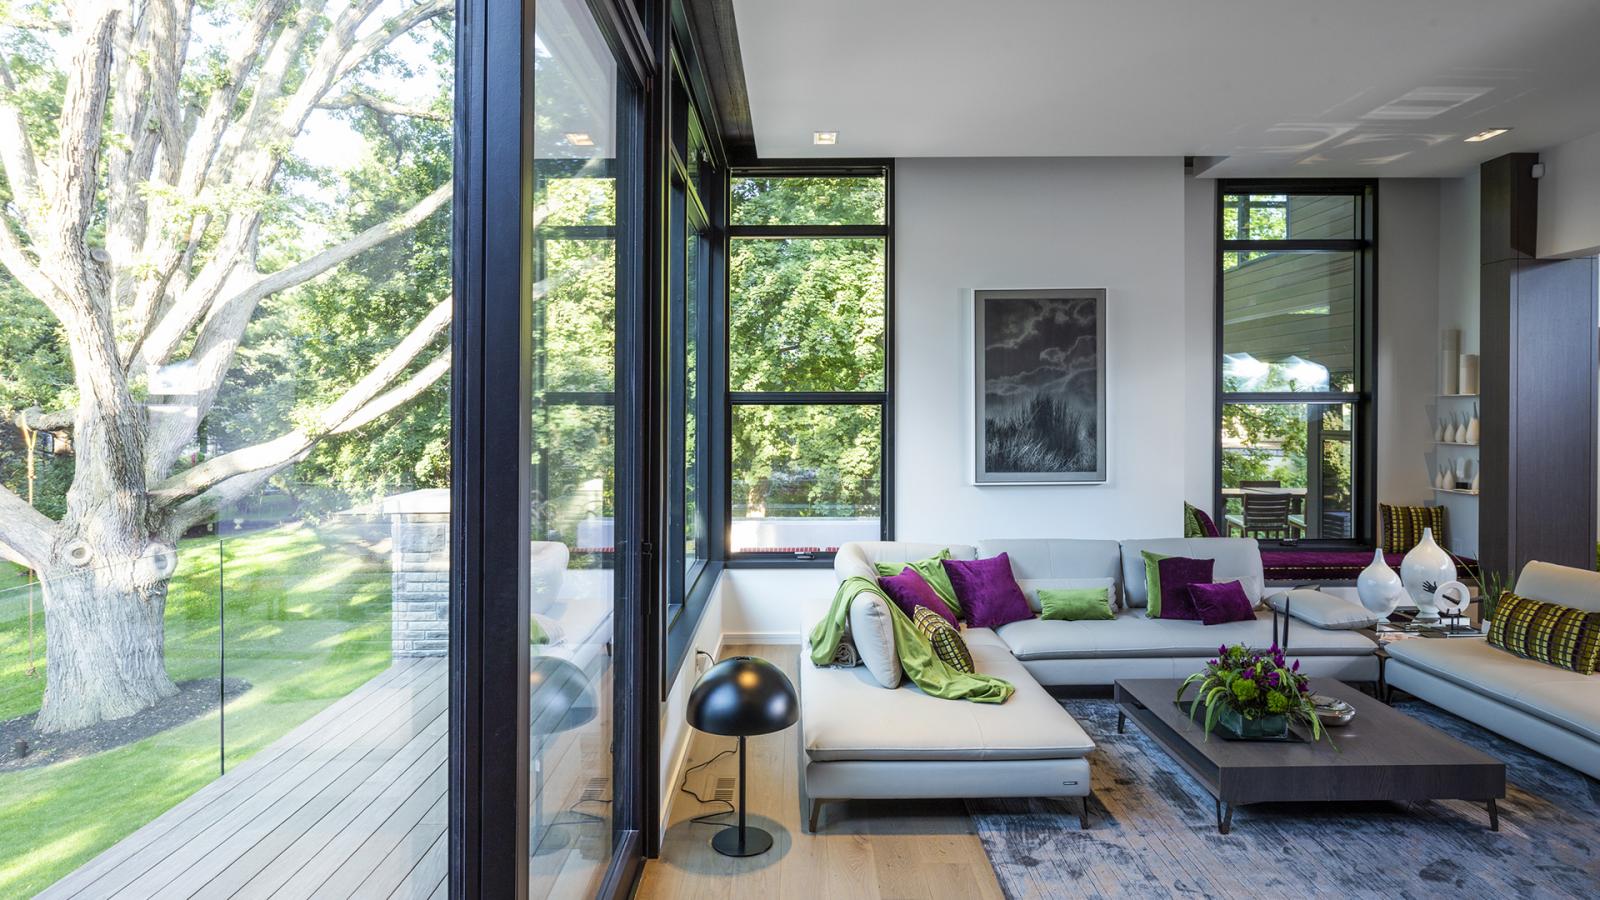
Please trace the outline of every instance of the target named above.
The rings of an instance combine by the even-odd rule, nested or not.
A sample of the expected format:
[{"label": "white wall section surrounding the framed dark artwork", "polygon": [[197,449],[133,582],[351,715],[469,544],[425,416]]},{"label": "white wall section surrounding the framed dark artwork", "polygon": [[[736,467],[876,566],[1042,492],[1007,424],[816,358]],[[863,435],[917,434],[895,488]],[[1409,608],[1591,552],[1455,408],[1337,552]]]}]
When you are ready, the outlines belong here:
[{"label": "white wall section surrounding the framed dark artwork", "polygon": [[[907,159],[894,171],[894,533],[1146,536],[1181,528],[1179,159]],[[1107,482],[971,484],[974,288],[1107,290]]]}]

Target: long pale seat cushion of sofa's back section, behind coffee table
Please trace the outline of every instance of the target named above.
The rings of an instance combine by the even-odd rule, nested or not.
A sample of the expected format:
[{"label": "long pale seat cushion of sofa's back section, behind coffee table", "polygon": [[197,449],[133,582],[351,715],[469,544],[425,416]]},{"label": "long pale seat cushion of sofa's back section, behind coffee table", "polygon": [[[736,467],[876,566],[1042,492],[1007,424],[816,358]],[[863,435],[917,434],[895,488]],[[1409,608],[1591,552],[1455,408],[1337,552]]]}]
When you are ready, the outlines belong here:
[{"label": "long pale seat cushion of sofa's back section, behind coffee table", "polygon": [[[1123,610],[1110,621],[1014,621],[997,628],[995,634],[1018,660],[1203,660],[1214,657],[1219,644],[1245,644],[1259,650],[1270,647],[1272,613],[1258,610],[1250,621],[1202,625],[1181,618],[1146,618],[1144,610]],[[1376,644],[1357,631],[1296,628],[1290,633],[1290,657],[1354,657],[1374,650]]]}]

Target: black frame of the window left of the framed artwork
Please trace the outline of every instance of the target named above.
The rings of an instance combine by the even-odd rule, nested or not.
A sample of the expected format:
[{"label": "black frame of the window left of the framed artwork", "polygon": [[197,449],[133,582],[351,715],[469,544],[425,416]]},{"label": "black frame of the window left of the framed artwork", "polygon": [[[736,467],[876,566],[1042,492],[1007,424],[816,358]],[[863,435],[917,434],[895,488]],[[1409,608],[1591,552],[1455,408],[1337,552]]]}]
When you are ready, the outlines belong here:
[{"label": "black frame of the window left of the framed artwork", "polygon": [[[880,460],[878,460],[878,538],[894,538],[894,160],[754,160],[734,165],[728,173],[728,186],[739,178],[883,178],[883,224],[728,224],[725,259],[733,258],[733,242],[739,239],[850,239],[870,237],[883,240],[883,389],[882,391],[733,391],[728,370],[723,368],[723,421],[720,436],[723,458],[722,514],[725,528],[720,544],[728,569],[830,569],[832,551],[811,552],[734,552],[733,538],[733,413],[734,407],[766,405],[838,405],[878,407],[880,410]],[[731,195],[730,195],[731,208]],[[731,223],[731,216],[730,216]],[[731,277],[726,279],[731,283]],[[723,295],[723,357],[731,360],[728,346],[731,319],[731,287]]]}]

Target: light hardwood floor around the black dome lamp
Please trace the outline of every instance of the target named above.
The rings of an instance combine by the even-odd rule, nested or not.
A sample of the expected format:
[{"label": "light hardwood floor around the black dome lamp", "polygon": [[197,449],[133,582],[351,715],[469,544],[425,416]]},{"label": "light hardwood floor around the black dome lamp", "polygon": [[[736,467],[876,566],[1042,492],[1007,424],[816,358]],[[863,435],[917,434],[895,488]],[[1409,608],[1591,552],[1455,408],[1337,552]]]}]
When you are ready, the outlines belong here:
[{"label": "light hardwood floor around the black dome lamp", "polygon": [[[798,682],[800,649],[733,645],[731,655],[765,657]],[[688,764],[734,746],[733,738],[694,733]],[[816,834],[805,833],[800,799],[800,729],[749,740],[749,822],[773,834],[773,849],[746,860],[710,849],[720,825],[693,823],[723,804],[701,804],[675,791],[659,860],[645,863],[637,897],[720,900],[733,897],[862,898],[1002,897],[989,857],[960,801],[830,802]],[[728,754],[693,772],[688,788],[702,798],[730,794],[738,759]],[[682,777],[682,775],[680,775]],[[722,781],[718,785],[718,781]],[[674,790],[677,785],[674,786]],[[722,817],[717,822],[731,820]]]}]

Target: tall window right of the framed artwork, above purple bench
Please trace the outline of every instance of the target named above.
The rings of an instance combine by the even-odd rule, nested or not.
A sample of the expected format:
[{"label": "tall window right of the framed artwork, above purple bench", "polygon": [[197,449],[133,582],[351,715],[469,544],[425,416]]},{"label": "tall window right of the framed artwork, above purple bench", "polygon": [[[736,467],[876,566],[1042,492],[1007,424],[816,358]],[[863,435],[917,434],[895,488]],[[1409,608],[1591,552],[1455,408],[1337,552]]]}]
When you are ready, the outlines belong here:
[{"label": "tall window right of the framed artwork, above purple bench", "polygon": [[1370,538],[1376,187],[1218,191],[1218,522]]}]

